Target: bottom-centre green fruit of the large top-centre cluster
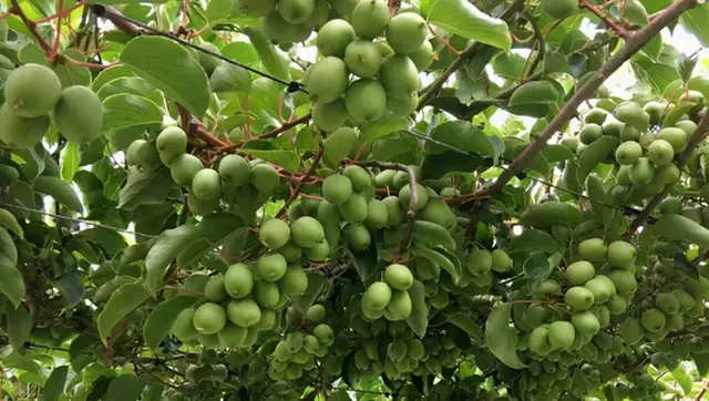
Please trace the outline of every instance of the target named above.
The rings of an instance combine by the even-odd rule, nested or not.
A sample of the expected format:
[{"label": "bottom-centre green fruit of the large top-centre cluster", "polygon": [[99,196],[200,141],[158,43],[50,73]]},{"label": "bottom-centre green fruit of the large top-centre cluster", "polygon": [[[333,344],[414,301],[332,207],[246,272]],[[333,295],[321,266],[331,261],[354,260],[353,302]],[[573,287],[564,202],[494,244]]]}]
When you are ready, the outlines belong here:
[{"label": "bottom-centre green fruit of the large top-centre cluster", "polygon": [[387,92],[377,80],[359,80],[347,89],[345,105],[354,122],[370,123],[382,116],[387,106]]}]

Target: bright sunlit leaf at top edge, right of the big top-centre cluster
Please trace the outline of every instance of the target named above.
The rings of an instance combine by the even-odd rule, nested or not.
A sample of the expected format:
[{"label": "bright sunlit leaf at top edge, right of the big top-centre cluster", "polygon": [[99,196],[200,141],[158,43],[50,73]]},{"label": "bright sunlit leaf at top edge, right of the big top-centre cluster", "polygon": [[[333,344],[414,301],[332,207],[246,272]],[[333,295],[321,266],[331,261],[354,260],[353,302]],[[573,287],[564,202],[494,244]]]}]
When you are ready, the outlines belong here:
[{"label": "bright sunlit leaf at top edge, right of the big top-centre cluster", "polygon": [[512,38],[507,24],[480,11],[466,0],[427,0],[421,4],[427,20],[465,39],[508,51]]}]

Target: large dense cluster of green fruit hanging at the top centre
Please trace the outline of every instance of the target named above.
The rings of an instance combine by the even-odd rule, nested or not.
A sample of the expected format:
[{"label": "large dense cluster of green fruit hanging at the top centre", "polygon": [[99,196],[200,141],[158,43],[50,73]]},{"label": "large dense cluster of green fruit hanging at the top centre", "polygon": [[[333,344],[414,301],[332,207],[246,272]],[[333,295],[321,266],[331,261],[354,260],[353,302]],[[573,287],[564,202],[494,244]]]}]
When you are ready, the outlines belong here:
[{"label": "large dense cluster of green fruit hanging at the top centre", "polygon": [[[383,31],[386,42],[373,42]],[[323,56],[306,71],[304,84],[314,99],[312,122],[335,131],[348,122],[364,125],[386,110],[408,115],[418,106],[419,72],[433,62],[421,16],[402,12],[389,18],[382,0],[362,0],[350,22],[330,20],[318,31]],[[350,73],[358,79],[350,81]]]}]

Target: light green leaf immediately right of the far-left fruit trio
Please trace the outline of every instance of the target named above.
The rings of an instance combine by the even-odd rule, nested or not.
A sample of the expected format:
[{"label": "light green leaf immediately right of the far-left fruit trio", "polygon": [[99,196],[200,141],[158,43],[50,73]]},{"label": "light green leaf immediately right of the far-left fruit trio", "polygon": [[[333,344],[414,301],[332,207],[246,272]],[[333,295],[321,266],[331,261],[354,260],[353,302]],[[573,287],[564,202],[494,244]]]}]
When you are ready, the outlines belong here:
[{"label": "light green leaf immediately right of the far-left fruit trio", "polygon": [[157,104],[146,97],[122,93],[103,100],[104,130],[120,130],[162,122],[163,112]]}]

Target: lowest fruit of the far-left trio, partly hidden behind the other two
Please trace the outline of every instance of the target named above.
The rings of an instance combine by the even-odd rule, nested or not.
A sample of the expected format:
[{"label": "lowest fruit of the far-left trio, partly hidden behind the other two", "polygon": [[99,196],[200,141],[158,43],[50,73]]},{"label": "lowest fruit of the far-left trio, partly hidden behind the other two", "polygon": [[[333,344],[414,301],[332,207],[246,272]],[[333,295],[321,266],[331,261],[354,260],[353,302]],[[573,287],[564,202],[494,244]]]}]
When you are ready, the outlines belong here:
[{"label": "lowest fruit of the far-left trio, partly hidden behind the other two", "polygon": [[50,124],[49,114],[25,119],[14,114],[8,102],[0,107],[0,141],[10,148],[40,143]]}]

